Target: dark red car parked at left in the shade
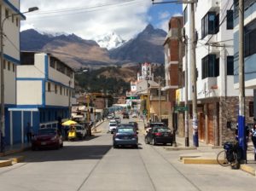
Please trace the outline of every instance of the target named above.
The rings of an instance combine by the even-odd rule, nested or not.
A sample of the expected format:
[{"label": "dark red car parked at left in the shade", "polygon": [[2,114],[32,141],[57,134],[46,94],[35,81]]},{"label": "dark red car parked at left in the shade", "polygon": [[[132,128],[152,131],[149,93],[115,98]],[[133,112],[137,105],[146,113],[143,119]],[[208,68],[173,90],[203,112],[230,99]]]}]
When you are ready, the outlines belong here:
[{"label": "dark red car parked at left in the shade", "polygon": [[32,137],[32,150],[38,148],[55,148],[63,147],[61,132],[54,128],[44,128],[38,130],[38,135]]}]

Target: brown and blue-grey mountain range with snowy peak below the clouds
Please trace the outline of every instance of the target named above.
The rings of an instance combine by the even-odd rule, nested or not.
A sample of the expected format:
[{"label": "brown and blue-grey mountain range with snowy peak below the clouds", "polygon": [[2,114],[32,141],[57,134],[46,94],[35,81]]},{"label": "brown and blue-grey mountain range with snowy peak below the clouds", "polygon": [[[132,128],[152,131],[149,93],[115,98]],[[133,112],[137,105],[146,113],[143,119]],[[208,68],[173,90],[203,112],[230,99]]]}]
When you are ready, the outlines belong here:
[{"label": "brown and blue-grey mountain range with snowy peak below the clouds", "polygon": [[[148,25],[136,38],[124,42],[111,32],[108,37],[99,38],[105,44],[95,40],[85,40],[75,34],[48,35],[29,29],[20,32],[22,51],[44,51],[58,57],[74,68],[133,66],[138,62],[164,63],[163,43],[166,32]],[[99,44],[101,44],[102,48]]]}]

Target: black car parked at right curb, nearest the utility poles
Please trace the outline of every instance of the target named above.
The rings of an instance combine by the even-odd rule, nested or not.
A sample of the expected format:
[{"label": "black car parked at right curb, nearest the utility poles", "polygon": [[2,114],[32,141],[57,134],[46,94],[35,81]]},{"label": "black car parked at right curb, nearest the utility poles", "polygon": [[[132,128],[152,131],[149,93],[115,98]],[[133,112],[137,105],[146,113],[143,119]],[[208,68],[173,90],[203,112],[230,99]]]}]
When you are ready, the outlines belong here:
[{"label": "black car parked at right curb, nearest the utility poles", "polygon": [[169,128],[154,126],[153,128],[148,129],[148,132],[145,136],[145,143],[150,143],[153,145],[158,143],[166,145],[167,143],[170,143],[172,146],[172,139],[172,131]]}]

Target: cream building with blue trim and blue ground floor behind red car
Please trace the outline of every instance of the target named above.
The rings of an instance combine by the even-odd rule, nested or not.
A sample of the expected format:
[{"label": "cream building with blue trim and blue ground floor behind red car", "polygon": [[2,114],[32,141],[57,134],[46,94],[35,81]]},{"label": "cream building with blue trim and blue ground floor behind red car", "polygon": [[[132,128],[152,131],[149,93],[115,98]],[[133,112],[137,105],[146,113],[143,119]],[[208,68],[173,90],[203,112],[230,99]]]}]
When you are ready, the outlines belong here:
[{"label": "cream building with blue trim and blue ground floor behind red car", "polygon": [[22,52],[16,72],[16,107],[9,108],[9,144],[26,142],[26,125],[57,127],[71,114],[74,72],[46,53]]}]

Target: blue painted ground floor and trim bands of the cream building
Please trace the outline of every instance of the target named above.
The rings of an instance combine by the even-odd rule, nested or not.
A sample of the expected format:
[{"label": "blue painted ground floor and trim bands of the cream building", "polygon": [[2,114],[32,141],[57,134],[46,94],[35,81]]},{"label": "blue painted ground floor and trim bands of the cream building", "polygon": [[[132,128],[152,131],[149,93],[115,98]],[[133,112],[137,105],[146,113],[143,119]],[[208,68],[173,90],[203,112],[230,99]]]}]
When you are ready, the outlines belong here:
[{"label": "blue painted ground floor and trim bands of the cream building", "polygon": [[32,125],[33,132],[37,133],[40,126],[57,127],[60,119],[69,118],[70,114],[68,107],[49,106],[46,104],[45,82],[53,82],[71,89],[61,82],[55,82],[55,80],[49,79],[49,55],[44,56],[44,78],[16,78],[16,81],[41,81],[42,104],[16,105],[6,108],[5,143],[7,145],[27,142],[27,123],[30,123]]}]

